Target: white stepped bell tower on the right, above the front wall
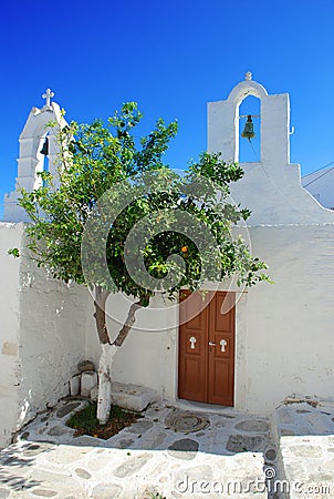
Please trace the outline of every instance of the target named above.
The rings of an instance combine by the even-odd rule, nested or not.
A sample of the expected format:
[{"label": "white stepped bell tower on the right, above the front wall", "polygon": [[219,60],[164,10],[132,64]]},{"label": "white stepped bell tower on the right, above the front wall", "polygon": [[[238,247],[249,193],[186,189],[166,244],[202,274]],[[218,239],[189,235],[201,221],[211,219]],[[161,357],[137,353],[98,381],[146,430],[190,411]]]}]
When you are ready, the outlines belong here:
[{"label": "white stepped bell tower on the right, above the front wall", "polygon": [[233,202],[252,211],[247,225],[285,225],[333,222],[301,186],[299,164],[290,163],[290,102],[288,93],[270,95],[252,80],[238,83],[225,101],[208,103],[208,151],[221,152],[226,162],[239,162],[240,141],[252,140],[252,123],[240,131],[239,108],[253,95],[260,100],[261,143],[257,162],[240,163],[244,176],[231,185]]}]

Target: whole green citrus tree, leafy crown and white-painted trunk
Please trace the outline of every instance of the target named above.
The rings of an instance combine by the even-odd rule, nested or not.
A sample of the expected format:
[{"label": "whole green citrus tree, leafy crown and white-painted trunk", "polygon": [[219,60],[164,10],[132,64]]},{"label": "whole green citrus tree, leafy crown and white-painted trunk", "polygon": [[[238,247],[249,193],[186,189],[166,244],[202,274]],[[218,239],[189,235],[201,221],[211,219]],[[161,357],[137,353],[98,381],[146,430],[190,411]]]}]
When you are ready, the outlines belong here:
[{"label": "whole green citrus tree, leafy crown and white-painted trunk", "polygon": [[[66,125],[59,135],[58,179],[42,172],[43,185],[33,192],[23,190],[20,198],[31,221],[27,227],[31,257],[55,278],[90,286],[94,294],[102,346],[101,422],[111,408],[113,358],[135,323],[136,310],[147,307],[155,294],[175,299],[182,287],[195,291],[206,279],[230,276],[247,286],[268,279],[262,273],[265,264],[230,233],[250,215],[228,197],[229,184],[242,177],[242,169],[225,163],[220,154],[202,153],[179,175],[163,162],[177,123],[159,119],[137,145],[134,129],[140,119],[131,102],[107,125],[100,120]],[[198,233],[203,237],[198,238]],[[17,248],[10,253],[18,256]],[[105,306],[116,292],[136,301],[112,340]]]}]

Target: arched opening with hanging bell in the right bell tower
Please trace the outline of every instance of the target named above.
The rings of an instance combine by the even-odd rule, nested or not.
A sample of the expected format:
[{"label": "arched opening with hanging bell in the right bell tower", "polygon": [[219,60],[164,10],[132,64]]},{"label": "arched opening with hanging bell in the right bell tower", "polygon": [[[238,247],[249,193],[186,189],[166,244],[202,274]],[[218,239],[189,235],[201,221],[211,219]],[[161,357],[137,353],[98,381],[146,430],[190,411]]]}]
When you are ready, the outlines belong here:
[{"label": "arched opening with hanging bell in the right bell tower", "polygon": [[261,99],[254,95],[246,96],[237,105],[236,146],[237,162],[261,162]]}]

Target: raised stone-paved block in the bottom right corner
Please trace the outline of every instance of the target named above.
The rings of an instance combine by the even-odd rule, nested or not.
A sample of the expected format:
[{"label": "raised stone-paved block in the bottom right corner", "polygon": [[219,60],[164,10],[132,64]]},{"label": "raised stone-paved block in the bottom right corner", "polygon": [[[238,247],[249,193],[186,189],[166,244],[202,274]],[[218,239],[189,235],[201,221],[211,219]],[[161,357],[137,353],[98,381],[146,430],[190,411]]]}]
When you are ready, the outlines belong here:
[{"label": "raised stone-paved block in the bottom right corner", "polygon": [[[334,498],[334,401],[291,398],[275,411],[278,478],[291,499]],[[282,483],[283,487],[283,483]]]}]

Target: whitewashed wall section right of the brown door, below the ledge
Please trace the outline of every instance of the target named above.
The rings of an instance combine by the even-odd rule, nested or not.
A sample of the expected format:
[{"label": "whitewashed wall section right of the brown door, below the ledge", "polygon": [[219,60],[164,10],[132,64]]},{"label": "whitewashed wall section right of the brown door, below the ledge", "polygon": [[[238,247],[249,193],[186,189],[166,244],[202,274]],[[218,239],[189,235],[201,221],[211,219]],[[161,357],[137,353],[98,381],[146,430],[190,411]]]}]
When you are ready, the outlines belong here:
[{"label": "whitewashed wall section right of the brown door, below the ledge", "polygon": [[237,305],[237,406],[268,414],[293,393],[333,398],[334,225],[251,227],[250,235],[274,284]]}]

